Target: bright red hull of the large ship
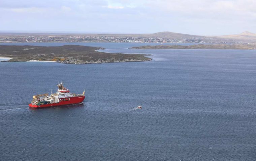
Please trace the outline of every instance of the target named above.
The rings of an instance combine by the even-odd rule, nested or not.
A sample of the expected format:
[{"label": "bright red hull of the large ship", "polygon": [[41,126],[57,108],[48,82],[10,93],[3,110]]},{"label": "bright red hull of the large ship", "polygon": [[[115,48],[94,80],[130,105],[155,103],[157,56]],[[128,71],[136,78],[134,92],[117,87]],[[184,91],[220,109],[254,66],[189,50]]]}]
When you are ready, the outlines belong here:
[{"label": "bright red hull of the large ship", "polygon": [[76,97],[69,97],[69,101],[61,101],[58,103],[51,103],[51,104],[45,104],[45,105],[32,105],[29,104],[29,107],[33,108],[46,108],[46,107],[55,107],[55,106],[64,106],[64,105],[72,105],[72,104],[78,104],[84,101],[85,96],[76,96]]}]

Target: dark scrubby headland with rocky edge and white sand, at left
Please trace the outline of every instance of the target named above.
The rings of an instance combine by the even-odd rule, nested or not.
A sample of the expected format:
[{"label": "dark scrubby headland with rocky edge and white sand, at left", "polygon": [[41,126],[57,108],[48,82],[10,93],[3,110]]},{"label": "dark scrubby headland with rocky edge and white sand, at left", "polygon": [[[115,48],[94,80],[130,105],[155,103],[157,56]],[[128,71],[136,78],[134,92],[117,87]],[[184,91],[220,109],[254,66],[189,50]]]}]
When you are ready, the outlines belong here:
[{"label": "dark scrubby headland with rocky edge and white sand, at left", "polygon": [[[18,46],[0,45],[0,56],[10,57],[7,62],[17,61],[55,61],[69,64],[130,62],[152,60],[146,54],[121,54],[105,53],[101,47],[90,47],[81,45],[63,46]],[[6,62],[6,61],[5,61]]]}]

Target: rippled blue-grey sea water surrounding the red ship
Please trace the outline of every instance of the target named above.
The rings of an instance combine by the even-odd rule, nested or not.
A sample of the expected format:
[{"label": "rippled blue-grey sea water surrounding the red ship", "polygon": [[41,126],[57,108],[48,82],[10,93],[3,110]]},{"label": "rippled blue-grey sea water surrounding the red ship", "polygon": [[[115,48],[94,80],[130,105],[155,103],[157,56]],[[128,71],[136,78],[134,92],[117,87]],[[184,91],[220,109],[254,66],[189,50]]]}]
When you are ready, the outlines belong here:
[{"label": "rippled blue-grey sea water surrounding the red ship", "polygon": [[[256,160],[255,50],[1,45],[65,44],[153,60],[0,63],[1,161]],[[72,93],[86,89],[84,104],[28,107],[33,95],[55,92],[61,81]]]}]

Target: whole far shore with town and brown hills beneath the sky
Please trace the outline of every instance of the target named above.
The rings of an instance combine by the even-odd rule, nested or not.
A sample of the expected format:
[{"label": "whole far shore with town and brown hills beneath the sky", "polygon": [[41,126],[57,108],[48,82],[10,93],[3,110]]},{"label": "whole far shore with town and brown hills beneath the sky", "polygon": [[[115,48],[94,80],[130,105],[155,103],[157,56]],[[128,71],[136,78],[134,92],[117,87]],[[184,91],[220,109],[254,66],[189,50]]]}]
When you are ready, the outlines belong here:
[{"label": "whole far shore with town and brown hills beneath the sky", "polygon": [[0,33],[0,42],[117,42],[117,43],[255,43],[256,34],[198,36],[173,32],[154,34]]}]

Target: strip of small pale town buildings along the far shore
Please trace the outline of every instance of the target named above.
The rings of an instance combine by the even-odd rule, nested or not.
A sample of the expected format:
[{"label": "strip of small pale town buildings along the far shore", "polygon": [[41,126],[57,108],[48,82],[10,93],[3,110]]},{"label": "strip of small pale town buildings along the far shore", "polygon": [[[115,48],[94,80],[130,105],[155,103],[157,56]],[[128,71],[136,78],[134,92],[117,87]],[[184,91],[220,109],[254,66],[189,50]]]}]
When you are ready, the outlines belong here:
[{"label": "strip of small pale town buildings along the far shore", "polygon": [[[208,41],[207,41],[208,40]],[[120,43],[218,43],[212,38],[145,38],[145,37],[119,37],[119,36],[11,36],[0,37],[0,42],[120,42]]]}]

